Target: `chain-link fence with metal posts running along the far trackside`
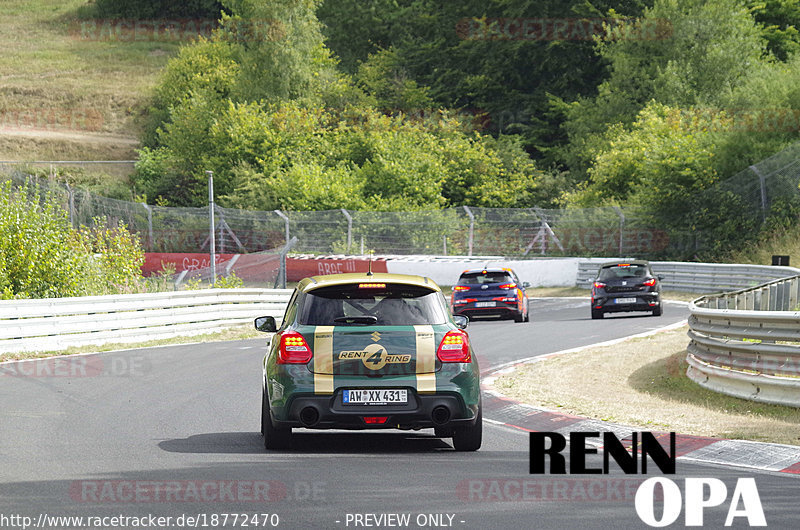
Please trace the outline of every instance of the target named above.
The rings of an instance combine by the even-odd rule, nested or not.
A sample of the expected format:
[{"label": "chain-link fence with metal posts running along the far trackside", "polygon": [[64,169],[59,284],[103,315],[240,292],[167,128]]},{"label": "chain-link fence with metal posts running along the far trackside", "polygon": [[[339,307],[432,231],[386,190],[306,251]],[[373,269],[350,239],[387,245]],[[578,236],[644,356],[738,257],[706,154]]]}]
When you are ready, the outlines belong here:
[{"label": "chain-link fence with metal posts running along the far trackside", "polygon": [[[3,169],[16,184],[34,179],[19,169]],[[95,218],[109,225],[122,221],[139,234],[148,252],[209,250],[208,207],[152,206],[100,197],[54,179],[36,182],[60,198],[75,226]],[[296,237],[294,252],[314,254],[686,259],[712,248],[720,215],[738,219],[742,228],[732,232],[757,230],[776,204],[798,198],[798,182],[800,143],[703,192],[706,203],[719,205],[716,217],[687,205],[686,211],[675,212],[681,222],[670,227],[640,209],[617,207],[283,212],[215,206],[216,251],[259,253]]]}]

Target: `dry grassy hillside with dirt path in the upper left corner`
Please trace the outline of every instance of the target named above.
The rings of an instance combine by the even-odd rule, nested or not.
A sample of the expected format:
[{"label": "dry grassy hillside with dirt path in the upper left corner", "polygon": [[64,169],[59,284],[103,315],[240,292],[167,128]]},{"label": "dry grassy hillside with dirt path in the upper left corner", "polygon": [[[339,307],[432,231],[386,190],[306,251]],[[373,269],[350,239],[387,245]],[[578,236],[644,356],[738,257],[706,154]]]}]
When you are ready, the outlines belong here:
[{"label": "dry grassy hillside with dirt path in the upper left corner", "polygon": [[86,5],[3,0],[0,160],[134,157],[137,117],[181,39],[114,41],[81,26]]}]

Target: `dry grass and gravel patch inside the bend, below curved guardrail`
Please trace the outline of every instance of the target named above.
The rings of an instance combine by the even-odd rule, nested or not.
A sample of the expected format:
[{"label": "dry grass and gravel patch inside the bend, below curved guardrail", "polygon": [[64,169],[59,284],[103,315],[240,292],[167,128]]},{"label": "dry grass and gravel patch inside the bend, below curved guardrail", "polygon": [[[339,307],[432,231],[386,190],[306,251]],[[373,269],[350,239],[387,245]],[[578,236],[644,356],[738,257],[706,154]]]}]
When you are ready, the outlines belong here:
[{"label": "dry grass and gravel patch inside the bend, below curved guardrail", "polygon": [[706,390],[686,377],[686,328],[527,365],[495,386],[519,401],[653,430],[800,445],[800,409]]}]

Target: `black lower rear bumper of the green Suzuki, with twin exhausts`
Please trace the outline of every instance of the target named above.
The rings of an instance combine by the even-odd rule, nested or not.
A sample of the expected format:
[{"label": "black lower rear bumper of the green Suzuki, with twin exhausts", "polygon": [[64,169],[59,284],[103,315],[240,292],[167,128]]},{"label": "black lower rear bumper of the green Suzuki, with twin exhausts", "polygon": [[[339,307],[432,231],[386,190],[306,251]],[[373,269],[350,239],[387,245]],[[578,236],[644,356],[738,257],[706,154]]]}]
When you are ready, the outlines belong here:
[{"label": "black lower rear bumper of the green Suzuki, with twin exhausts", "polygon": [[[404,405],[344,405],[341,391],[332,396],[301,394],[289,400],[284,414],[272,411],[272,418],[279,428],[361,430],[466,427],[474,425],[478,417],[478,405],[467,406],[457,393],[420,395],[409,389],[408,396]],[[367,424],[365,416],[387,417],[387,420]]]}]

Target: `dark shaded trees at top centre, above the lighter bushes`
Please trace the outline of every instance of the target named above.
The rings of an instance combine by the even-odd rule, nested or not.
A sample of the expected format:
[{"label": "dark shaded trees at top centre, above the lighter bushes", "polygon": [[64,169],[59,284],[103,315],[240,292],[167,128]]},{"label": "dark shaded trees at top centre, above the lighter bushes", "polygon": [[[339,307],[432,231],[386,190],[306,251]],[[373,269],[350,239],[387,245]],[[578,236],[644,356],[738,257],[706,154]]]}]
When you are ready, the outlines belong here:
[{"label": "dark shaded trees at top centre, above the lighter bushes", "polygon": [[589,35],[509,35],[502,21],[574,25],[580,17],[608,16],[612,7],[620,15],[637,16],[650,3],[326,0],[319,17],[326,43],[346,72],[364,82],[372,73],[364,70],[385,69],[388,58],[390,70],[396,72],[388,88],[414,83],[429,87],[423,90],[433,107],[485,113],[486,132],[521,134],[526,149],[547,165],[557,155],[552,148],[564,140],[559,130],[563,116],[550,108],[550,95],[566,101],[592,95],[606,76],[603,60],[594,53]]}]

